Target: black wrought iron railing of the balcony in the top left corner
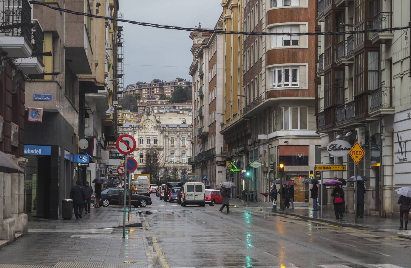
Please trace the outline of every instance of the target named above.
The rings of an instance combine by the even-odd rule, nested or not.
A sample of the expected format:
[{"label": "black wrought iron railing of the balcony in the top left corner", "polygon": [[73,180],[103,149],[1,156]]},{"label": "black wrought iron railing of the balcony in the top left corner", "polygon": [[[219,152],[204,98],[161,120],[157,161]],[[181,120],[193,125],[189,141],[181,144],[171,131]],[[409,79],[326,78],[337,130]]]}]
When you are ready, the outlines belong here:
[{"label": "black wrought iron railing of the balcony in the top left corner", "polygon": [[32,44],[31,7],[28,0],[0,0],[0,26],[12,26],[0,30],[1,35],[23,36]]}]

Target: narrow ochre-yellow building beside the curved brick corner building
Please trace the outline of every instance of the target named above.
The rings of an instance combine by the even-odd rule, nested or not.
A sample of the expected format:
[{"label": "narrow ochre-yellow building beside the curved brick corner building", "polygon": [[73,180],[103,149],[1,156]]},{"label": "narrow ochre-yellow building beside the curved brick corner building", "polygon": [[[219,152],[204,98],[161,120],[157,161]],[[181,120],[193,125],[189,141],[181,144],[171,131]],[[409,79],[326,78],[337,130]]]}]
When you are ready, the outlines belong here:
[{"label": "narrow ochre-yellow building beside the curved brick corner building", "polygon": [[[241,0],[222,0],[223,30],[242,31]],[[242,91],[242,36],[239,34],[224,35],[223,44],[223,98],[220,133],[227,144],[226,160],[234,160],[238,167],[246,163],[245,144],[250,138],[249,121],[242,119],[244,92]],[[238,186],[234,195],[240,195],[244,184],[239,172],[226,170],[226,177],[232,178]]]}]

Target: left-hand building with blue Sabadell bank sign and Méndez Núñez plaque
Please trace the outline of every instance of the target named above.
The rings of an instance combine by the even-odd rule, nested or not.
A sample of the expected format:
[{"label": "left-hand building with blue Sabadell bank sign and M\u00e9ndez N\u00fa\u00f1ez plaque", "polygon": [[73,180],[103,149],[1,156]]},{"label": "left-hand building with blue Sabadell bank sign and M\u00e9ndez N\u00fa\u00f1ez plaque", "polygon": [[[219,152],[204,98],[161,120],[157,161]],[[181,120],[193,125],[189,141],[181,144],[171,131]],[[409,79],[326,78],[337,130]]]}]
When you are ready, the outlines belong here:
[{"label": "left-hand building with blue Sabadell bank sign and M\u00e9ndez N\u00fa\u00f1ez plaque", "polygon": [[[63,2],[49,4],[62,7]],[[118,1],[65,1],[65,8],[116,17]],[[115,25],[104,19],[79,19],[41,5],[34,5],[32,13],[43,27],[44,49],[51,55],[44,56],[46,74],[26,87],[26,106],[43,108],[44,112],[41,124],[25,123],[30,135],[25,135],[24,144],[44,150],[26,154],[25,182],[33,187],[25,190],[25,212],[58,219],[60,200],[69,196],[76,180],[84,183],[98,176],[104,143],[115,139],[109,113],[109,101],[115,94],[115,86],[109,81],[113,57],[106,52],[116,40]],[[84,138],[88,147],[83,151],[79,140]],[[78,154],[88,154],[88,167],[76,163]]]}]

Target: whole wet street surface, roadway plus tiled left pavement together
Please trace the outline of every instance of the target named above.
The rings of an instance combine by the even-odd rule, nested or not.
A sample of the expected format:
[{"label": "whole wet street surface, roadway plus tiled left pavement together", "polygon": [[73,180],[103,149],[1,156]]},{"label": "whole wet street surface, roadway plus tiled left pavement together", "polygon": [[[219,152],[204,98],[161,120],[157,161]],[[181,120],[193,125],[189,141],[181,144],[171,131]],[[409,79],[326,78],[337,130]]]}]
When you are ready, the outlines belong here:
[{"label": "whole wet street surface, roadway plus tiled left pavement together", "polygon": [[[387,231],[343,228],[260,208],[231,207],[228,214],[220,213],[218,205],[183,208],[155,195],[152,198],[152,206],[138,209],[143,226],[127,228],[126,239],[122,228],[81,229],[81,220],[71,220],[60,226],[64,230],[54,231],[42,230],[37,224],[0,249],[0,263],[41,265],[33,267],[73,261],[79,263],[73,267],[83,267],[84,262],[164,268],[410,267],[411,241]],[[115,206],[92,209],[91,217],[83,220],[108,213],[108,209],[122,213]]]}]

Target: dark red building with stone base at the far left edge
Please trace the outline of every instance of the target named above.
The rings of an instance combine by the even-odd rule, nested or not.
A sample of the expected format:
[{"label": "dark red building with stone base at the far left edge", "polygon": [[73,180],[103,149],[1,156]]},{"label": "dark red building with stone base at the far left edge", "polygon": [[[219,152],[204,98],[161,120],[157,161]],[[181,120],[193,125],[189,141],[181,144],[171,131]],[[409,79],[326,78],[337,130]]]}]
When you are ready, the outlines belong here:
[{"label": "dark red building with stone base at the far left edge", "polygon": [[[43,73],[44,32],[27,0],[1,0],[0,14],[0,240],[11,243],[27,233],[24,192],[32,185],[24,177],[26,80]],[[42,112],[31,114],[40,120]]]}]

